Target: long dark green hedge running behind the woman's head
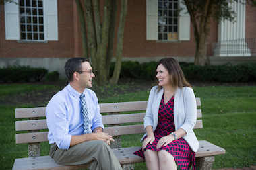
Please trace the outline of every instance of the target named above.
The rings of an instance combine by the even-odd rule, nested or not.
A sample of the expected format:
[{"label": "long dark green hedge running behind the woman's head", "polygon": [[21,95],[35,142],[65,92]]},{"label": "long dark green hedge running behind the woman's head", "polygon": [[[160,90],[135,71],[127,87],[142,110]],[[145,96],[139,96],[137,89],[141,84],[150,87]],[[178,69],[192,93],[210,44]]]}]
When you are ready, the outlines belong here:
[{"label": "long dark green hedge running behind the woman's head", "polygon": [[[155,79],[156,65],[158,62],[122,62],[121,78]],[[189,81],[217,81],[217,82],[246,82],[256,81],[256,63],[245,62],[240,65],[193,65],[192,63],[179,62],[183,73]],[[110,76],[115,63],[112,63]]]}]

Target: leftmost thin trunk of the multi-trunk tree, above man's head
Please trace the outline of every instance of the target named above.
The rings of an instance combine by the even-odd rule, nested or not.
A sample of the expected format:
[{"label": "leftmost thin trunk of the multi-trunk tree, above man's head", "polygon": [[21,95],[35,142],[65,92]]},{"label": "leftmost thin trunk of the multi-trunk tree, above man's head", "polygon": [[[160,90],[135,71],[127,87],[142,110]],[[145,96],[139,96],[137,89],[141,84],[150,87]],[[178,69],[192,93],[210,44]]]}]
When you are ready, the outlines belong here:
[{"label": "leftmost thin trunk of the multi-trunk tree, above man's head", "polygon": [[77,11],[79,15],[80,28],[82,34],[82,48],[83,48],[83,56],[84,58],[89,58],[88,52],[88,43],[87,43],[87,32],[86,32],[86,22],[84,21],[84,9],[82,7],[80,0],[75,0]]}]

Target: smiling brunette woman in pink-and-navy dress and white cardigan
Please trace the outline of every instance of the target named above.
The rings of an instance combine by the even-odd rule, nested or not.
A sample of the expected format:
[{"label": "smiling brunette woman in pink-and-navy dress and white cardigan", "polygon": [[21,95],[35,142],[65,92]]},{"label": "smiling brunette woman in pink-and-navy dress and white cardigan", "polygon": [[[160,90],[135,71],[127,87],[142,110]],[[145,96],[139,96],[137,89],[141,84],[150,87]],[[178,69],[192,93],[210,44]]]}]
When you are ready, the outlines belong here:
[{"label": "smiling brunette woman in pink-and-navy dress and white cardigan", "polygon": [[[144,118],[143,145],[134,154],[147,169],[195,169],[199,142],[193,132],[197,120],[195,94],[179,62],[164,58],[156,67],[158,86],[152,87]],[[176,162],[176,163],[175,163]]]}]

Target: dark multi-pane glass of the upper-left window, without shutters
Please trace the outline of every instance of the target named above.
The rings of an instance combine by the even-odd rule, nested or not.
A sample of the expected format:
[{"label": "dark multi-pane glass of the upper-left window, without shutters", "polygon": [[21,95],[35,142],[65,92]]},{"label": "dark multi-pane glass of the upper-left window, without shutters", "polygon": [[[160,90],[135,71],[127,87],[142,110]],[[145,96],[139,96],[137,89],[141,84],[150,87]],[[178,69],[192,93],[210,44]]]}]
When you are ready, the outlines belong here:
[{"label": "dark multi-pane glass of the upper-left window, without shutters", "polygon": [[20,0],[20,39],[44,41],[44,12],[42,1]]}]

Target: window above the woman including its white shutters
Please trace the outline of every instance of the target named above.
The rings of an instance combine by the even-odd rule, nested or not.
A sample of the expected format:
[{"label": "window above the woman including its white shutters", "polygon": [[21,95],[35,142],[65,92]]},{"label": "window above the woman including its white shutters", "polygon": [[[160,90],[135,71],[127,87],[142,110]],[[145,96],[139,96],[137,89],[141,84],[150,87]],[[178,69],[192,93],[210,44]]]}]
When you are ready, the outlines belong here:
[{"label": "window above the woman including its white shutters", "polygon": [[190,40],[190,16],[183,0],[146,0],[146,39]]}]

